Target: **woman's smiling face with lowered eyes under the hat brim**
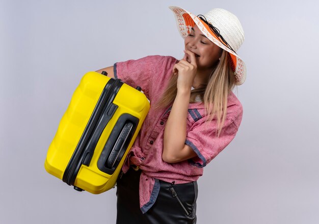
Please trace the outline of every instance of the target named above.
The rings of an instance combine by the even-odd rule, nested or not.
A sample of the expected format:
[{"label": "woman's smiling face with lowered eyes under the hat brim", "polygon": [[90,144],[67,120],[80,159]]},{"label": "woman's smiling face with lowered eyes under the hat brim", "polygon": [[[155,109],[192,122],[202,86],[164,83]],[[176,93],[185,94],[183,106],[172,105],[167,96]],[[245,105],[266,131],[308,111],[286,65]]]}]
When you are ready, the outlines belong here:
[{"label": "woman's smiling face with lowered eyes under the hat brim", "polygon": [[[222,49],[203,35],[197,25],[195,25],[191,33],[185,37],[184,43],[185,49],[195,53],[198,69],[214,68],[221,57]],[[188,55],[186,55],[186,60],[189,63],[191,62]]]}]

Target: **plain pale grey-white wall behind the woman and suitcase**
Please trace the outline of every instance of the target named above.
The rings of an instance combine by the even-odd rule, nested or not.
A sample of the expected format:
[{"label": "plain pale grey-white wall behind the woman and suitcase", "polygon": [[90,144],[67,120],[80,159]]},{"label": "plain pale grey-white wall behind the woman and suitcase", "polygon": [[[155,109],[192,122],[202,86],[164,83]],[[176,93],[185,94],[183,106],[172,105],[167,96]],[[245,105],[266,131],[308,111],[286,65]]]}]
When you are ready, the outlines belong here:
[{"label": "plain pale grey-white wall behind the woman and suitcase", "polygon": [[198,223],[319,223],[318,2],[0,0],[0,223],[115,223],[115,189],[46,173],[59,121],[88,71],[183,56],[168,6],[240,20],[240,130],[199,179]]}]

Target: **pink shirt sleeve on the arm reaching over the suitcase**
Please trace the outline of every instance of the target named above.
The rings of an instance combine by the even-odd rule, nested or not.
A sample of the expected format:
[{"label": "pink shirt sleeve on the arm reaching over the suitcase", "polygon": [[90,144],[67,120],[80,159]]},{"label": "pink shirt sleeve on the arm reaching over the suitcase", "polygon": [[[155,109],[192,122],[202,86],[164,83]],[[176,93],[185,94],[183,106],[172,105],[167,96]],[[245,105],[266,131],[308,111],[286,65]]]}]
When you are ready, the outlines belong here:
[{"label": "pink shirt sleeve on the arm reaching over the suitcase", "polygon": [[[171,67],[176,59],[161,55],[147,56],[138,60],[128,60],[114,64],[114,77],[124,81],[127,85],[141,87],[148,99],[153,92],[164,85],[167,79],[166,67]],[[155,85],[154,85],[155,83]]]}]

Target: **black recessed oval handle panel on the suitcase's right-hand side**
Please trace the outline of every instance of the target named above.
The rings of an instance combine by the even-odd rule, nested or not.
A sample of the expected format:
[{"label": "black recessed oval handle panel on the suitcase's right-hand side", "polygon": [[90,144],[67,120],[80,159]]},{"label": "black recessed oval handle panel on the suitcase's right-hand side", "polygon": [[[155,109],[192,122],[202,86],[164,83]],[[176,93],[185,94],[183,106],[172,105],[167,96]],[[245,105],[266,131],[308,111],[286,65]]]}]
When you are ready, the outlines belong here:
[{"label": "black recessed oval handle panel on the suitcase's right-hand side", "polygon": [[119,117],[97,161],[100,171],[112,175],[135,133],[139,119],[123,114]]}]

